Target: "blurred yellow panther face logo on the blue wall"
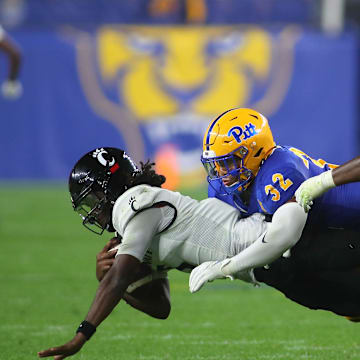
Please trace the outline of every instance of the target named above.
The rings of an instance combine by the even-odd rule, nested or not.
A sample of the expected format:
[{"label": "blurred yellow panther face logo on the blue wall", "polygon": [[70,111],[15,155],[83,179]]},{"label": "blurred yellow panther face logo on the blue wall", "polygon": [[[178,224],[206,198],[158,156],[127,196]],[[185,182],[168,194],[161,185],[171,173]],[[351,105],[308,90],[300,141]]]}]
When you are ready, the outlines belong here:
[{"label": "blurred yellow panther face logo on the blue wall", "polygon": [[257,27],[104,26],[78,37],[78,71],[94,111],[120,130],[132,157],[150,155],[166,175],[177,174],[172,187],[194,185],[205,177],[201,143],[214,116],[241,106],[270,115],[281,104],[297,35],[294,28],[274,35]]}]

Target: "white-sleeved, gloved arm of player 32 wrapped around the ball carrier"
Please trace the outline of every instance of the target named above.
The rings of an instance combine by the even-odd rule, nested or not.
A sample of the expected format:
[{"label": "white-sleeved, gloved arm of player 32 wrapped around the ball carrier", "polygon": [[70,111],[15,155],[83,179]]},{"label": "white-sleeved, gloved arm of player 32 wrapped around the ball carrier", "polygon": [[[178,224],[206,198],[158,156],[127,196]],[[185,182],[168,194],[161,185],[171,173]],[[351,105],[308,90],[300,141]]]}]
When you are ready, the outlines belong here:
[{"label": "white-sleeved, gloved arm of player 32 wrapped around the ball carrier", "polygon": [[[208,281],[233,277],[236,273],[270,264],[301,237],[307,214],[296,202],[279,207],[273,215],[268,230],[253,244],[236,256],[219,262],[206,262],[196,267],[190,275],[191,292],[196,292]],[[246,219],[243,219],[245,222]]]}]

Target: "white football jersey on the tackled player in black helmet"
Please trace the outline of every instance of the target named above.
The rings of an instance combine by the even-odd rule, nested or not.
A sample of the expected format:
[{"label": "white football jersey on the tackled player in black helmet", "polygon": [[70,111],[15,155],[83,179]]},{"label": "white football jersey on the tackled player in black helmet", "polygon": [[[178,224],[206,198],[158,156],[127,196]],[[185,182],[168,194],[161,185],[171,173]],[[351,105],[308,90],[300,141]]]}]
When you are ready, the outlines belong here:
[{"label": "white football jersey on the tackled player in black helmet", "polygon": [[[167,223],[151,239],[150,245],[146,245],[146,254],[139,260],[151,263],[159,270],[190,270],[205,261],[232,257],[267,229],[261,214],[241,219],[238,210],[218,199],[197,201],[178,192],[148,185],[133,187],[117,199],[112,215],[114,228],[119,235],[126,236],[129,222],[136,221],[137,214],[158,204],[163,206],[161,210],[168,217]],[[141,221],[137,226],[144,224],[144,217]],[[126,247],[120,245],[117,255],[136,253],[131,250],[134,239],[131,235],[128,237],[123,238]]]}]

